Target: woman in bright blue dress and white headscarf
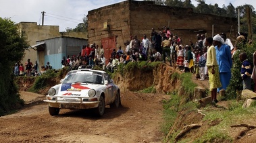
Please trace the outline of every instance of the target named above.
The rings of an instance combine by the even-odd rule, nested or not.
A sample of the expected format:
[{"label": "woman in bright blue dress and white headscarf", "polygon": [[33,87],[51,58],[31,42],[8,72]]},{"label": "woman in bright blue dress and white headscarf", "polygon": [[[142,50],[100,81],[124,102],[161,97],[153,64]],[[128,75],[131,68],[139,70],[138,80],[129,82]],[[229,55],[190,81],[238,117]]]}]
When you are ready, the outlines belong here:
[{"label": "woman in bright blue dress and white headscarf", "polygon": [[220,70],[220,82],[222,87],[217,88],[217,92],[224,89],[226,91],[231,79],[232,58],[230,47],[225,44],[224,39],[219,35],[213,37],[217,64]]}]

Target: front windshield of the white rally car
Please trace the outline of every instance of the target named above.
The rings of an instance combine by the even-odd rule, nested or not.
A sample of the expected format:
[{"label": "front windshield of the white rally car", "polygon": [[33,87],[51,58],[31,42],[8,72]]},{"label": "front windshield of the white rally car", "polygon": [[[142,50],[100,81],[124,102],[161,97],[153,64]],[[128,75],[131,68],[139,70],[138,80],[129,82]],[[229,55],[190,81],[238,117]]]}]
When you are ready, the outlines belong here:
[{"label": "front windshield of the white rally car", "polygon": [[103,85],[103,77],[101,73],[97,72],[83,72],[78,71],[68,75],[63,83],[93,83]]}]

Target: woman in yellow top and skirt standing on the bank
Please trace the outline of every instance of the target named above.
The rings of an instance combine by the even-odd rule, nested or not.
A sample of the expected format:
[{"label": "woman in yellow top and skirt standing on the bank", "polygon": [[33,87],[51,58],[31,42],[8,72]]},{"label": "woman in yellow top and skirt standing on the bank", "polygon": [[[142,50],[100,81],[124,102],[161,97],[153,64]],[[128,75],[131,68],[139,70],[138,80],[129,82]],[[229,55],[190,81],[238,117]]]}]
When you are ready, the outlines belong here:
[{"label": "woman in yellow top and skirt standing on the bank", "polygon": [[222,84],[220,83],[219,66],[217,65],[213,38],[206,38],[205,46],[208,47],[206,66],[209,75],[209,91],[211,91],[211,101],[213,103],[217,103],[217,88],[222,87]]}]

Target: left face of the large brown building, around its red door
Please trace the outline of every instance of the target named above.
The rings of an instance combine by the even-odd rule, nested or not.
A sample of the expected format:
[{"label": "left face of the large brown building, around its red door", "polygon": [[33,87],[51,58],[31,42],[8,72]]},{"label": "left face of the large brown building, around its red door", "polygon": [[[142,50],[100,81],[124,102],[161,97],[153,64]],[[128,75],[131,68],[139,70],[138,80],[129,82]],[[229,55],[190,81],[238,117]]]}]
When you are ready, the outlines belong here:
[{"label": "left face of the large brown building, around its red door", "polygon": [[116,37],[116,47],[124,46],[130,36],[129,5],[124,1],[88,11],[88,43],[101,45],[102,39]]}]

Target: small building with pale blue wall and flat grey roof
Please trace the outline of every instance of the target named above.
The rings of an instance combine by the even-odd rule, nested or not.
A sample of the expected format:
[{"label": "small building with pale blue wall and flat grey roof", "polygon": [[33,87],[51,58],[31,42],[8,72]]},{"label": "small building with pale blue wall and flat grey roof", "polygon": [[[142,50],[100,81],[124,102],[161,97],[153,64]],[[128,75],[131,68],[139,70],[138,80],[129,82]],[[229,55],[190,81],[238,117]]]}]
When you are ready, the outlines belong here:
[{"label": "small building with pale blue wall and flat grey roof", "polygon": [[70,38],[61,36],[57,38],[49,38],[36,42],[30,49],[36,51],[36,57],[41,66],[45,66],[50,62],[53,69],[61,68],[61,60],[63,56],[77,56],[82,50],[82,45],[86,45],[88,40],[82,38]]}]

